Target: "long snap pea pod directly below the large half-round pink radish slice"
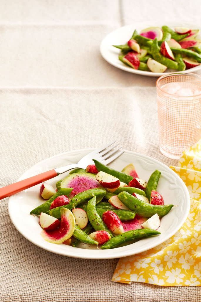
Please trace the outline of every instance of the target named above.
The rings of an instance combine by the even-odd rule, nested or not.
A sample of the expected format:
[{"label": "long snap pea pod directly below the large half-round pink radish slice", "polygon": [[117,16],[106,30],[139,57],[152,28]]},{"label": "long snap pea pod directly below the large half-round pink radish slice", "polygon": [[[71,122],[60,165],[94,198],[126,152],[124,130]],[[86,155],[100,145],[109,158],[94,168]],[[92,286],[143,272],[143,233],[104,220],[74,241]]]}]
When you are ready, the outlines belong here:
[{"label": "long snap pea pod directly below the large half-round pink radish slice", "polygon": [[56,207],[52,210],[49,210],[47,212],[47,214],[55,217],[55,218],[61,218],[61,214],[60,214],[60,209],[62,207],[67,207],[68,209],[77,207],[78,204],[82,204],[88,200],[90,200],[93,196],[97,196],[97,202],[101,201],[102,198],[104,197],[106,193],[106,190],[101,189],[101,188],[96,188],[96,189],[89,189],[87,191],[83,191],[81,193],[78,193],[77,195],[75,195],[72,199],[70,204],[67,204],[65,206],[61,206],[61,207]]}]

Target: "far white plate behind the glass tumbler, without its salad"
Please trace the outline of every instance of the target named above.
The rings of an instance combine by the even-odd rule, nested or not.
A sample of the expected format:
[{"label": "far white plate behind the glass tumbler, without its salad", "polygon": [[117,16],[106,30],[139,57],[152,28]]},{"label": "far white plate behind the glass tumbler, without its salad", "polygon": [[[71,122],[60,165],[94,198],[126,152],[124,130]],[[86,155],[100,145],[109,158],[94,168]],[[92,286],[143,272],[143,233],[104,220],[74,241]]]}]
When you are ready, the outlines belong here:
[{"label": "far white plate behind the glass tumbler, without its salad", "polygon": [[[177,26],[183,26],[183,27],[189,27],[192,29],[199,29],[199,27],[195,27],[195,24],[184,24],[184,23],[180,23],[180,24],[159,24],[156,22],[143,22],[143,23],[135,23],[132,25],[127,25],[127,26],[123,26],[118,28],[115,31],[112,31],[110,34],[108,34],[101,42],[100,45],[100,52],[102,54],[102,57],[111,65],[128,71],[128,72],[132,72],[132,73],[136,73],[142,76],[152,76],[152,77],[159,77],[164,75],[165,73],[168,72],[175,72],[175,70],[170,70],[167,69],[167,72],[151,72],[151,71],[142,71],[142,70],[136,70],[133,69],[129,66],[126,66],[124,63],[122,63],[119,59],[118,56],[121,54],[121,51],[118,48],[113,47],[112,45],[121,45],[121,44],[125,44],[130,37],[133,34],[133,31],[135,29],[137,29],[138,33],[147,27],[151,27],[151,26],[158,26],[161,27],[162,25],[168,25],[169,27],[171,27],[172,29],[174,29],[174,27]],[[199,70],[201,68],[201,65],[190,68],[185,70],[184,72],[195,72],[196,70]],[[182,71],[179,71],[182,72]]]}]

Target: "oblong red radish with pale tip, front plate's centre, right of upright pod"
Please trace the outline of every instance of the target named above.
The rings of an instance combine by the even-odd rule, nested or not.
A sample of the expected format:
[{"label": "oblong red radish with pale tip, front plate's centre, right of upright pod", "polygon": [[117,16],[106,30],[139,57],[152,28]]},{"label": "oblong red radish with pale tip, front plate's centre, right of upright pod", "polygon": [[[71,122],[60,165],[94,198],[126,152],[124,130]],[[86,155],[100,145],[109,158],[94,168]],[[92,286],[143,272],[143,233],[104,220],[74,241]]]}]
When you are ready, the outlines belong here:
[{"label": "oblong red radish with pale tip, front plate's centre, right of upright pod", "polygon": [[114,212],[112,211],[104,212],[102,214],[102,220],[106,224],[108,229],[112,231],[112,233],[116,235],[120,235],[124,233],[122,222],[117,216],[117,214],[115,214]]}]

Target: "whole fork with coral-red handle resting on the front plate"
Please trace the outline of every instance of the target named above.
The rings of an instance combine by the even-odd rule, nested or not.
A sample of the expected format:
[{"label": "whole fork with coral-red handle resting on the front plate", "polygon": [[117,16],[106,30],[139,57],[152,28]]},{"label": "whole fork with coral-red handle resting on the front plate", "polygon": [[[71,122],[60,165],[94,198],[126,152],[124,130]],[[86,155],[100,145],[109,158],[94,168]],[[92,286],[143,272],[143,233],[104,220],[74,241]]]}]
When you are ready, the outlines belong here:
[{"label": "whole fork with coral-red handle resting on the front plate", "polygon": [[[122,153],[124,153],[124,150],[121,149],[121,146],[119,146],[118,143],[115,146],[111,146],[116,142],[117,141],[114,141],[90,152],[89,154],[85,155],[82,159],[80,159],[77,164],[71,164],[61,168],[52,169],[40,173],[38,175],[32,176],[30,178],[21,180],[20,182],[15,182],[11,185],[0,188],[0,200],[18,192],[21,192],[25,189],[28,189],[30,187],[33,187],[35,185],[38,185],[41,182],[45,182],[46,180],[56,177],[57,175],[67,172],[71,169],[86,169],[86,166],[92,163],[92,159],[97,159],[105,165],[109,164],[110,162],[118,158]],[[115,147],[118,148],[114,149]]]}]

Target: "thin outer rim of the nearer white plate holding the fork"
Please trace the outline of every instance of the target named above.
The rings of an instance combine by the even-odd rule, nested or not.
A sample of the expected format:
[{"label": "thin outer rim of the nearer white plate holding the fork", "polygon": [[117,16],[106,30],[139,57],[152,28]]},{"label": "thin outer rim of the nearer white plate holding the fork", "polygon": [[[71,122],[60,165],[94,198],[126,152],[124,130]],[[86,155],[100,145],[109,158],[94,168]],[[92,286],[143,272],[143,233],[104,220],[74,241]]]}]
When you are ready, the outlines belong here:
[{"label": "thin outer rim of the nearer white plate holding the fork", "polygon": [[[63,153],[59,153],[59,154],[56,154],[56,155],[54,155],[54,156],[51,156],[51,157],[48,157],[48,158],[46,158],[46,159],[43,159],[42,161],[40,161],[40,162],[38,162],[38,163],[36,163],[35,165],[33,165],[33,166],[31,166],[29,169],[27,169],[18,179],[17,179],[17,181],[20,181],[20,180],[22,180],[22,179],[24,179],[24,175],[29,171],[29,170],[31,170],[31,169],[34,169],[37,165],[39,165],[39,164],[41,164],[41,163],[43,163],[43,162],[46,162],[46,160],[51,160],[51,159],[53,159],[53,158],[55,158],[55,157],[60,157],[60,156],[62,156],[62,155],[66,155],[66,154],[69,154],[69,153],[74,153],[74,152],[86,152],[86,151],[91,151],[91,150],[94,150],[94,148],[83,148],[83,149],[75,149],[75,150],[71,150],[71,151],[66,151],[66,152],[63,152]],[[9,197],[9,199],[8,199],[8,213],[9,213],[9,216],[10,216],[10,219],[11,219],[11,222],[13,223],[13,225],[15,226],[15,228],[17,229],[17,231],[24,237],[24,238],[26,238],[28,241],[30,241],[31,243],[33,243],[34,245],[36,245],[36,246],[39,246],[40,248],[42,248],[42,249],[44,249],[44,250],[46,250],[46,251],[48,251],[48,252],[52,252],[52,253],[55,253],[55,254],[58,254],[58,255],[63,255],[63,256],[67,256],[67,257],[72,257],[72,258],[79,258],[79,259],[116,259],[116,258],[122,258],[122,257],[127,257],[127,256],[131,256],[131,255],[135,255],[135,254],[138,254],[138,253],[141,253],[141,252],[144,252],[144,251],[147,251],[147,250],[149,250],[149,249],[152,249],[152,248],[154,248],[155,246],[158,246],[159,244],[162,244],[163,242],[165,242],[166,240],[168,240],[170,237],[172,237],[180,228],[181,228],[181,226],[183,225],[183,223],[184,223],[184,221],[187,219],[187,216],[188,216],[188,214],[189,214],[189,211],[190,211],[190,195],[189,195],[189,191],[188,191],[188,189],[187,189],[187,187],[186,187],[186,185],[184,184],[184,182],[182,181],[182,179],[179,177],[179,175],[177,175],[177,173],[176,172],[174,172],[172,169],[170,169],[167,165],[165,165],[164,163],[162,163],[162,162],[160,162],[159,160],[157,160],[157,159],[154,159],[154,158],[152,158],[152,157],[150,157],[150,156],[148,156],[148,155],[145,155],[145,154],[141,154],[141,153],[138,153],[138,152],[134,152],[134,151],[130,151],[130,150],[124,150],[126,153],[130,153],[130,154],[132,154],[132,155],[136,155],[136,156],[140,156],[140,157],[144,157],[145,159],[152,159],[154,162],[157,162],[157,163],[160,163],[160,165],[162,165],[162,166],[164,166],[165,167],[165,169],[168,169],[168,170],[170,170],[171,171],[171,173],[173,173],[174,174],[174,176],[177,178],[177,179],[179,179],[179,181],[181,182],[181,184],[182,184],[182,187],[183,187],[183,189],[184,189],[184,193],[185,193],[185,196],[187,197],[187,199],[188,199],[188,203],[187,203],[187,205],[186,205],[186,210],[185,210],[185,215],[183,216],[183,219],[181,219],[180,220],[180,223],[178,223],[178,225],[177,225],[177,227],[176,228],[174,228],[174,230],[170,233],[170,234],[168,234],[166,237],[165,237],[165,239],[161,239],[160,240],[160,242],[159,243],[157,243],[157,244],[153,244],[153,245],[150,245],[150,247],[148,248],[148,249],[141,249],[141,251],[138,251],[137,253],[134,253],[133,254],[133,252],[130,250],[128,250],[128,251],[122,251],[122,252],[120,252],[120,253],[118,253],[118,251],[117,251],[117,255],[109,255],[109,256],[107,256],[107,255],[104,255],[103,254],[103,256],[98,256],[98,255],[96,255],[96,254],[94,254],[93,256],[92,255],[90,255],[90,256],[88,256],[88,254],[86,253],[86,254],[82,254],[82,255],[74,255],[73,254],[73,252],[70,252],[70,251],[53,251],[52,249],[51,249],[51,247],[49,248],[48,246],[47,247],[44,247],[44,246],[42,246],[40,243],[36,243],[34,240],[32,240],[32,239],[30,239],[29,238],[29,236],[26,236],[26,234],[24,234],[24,232],[23,232],[23,230],[21,230],[20,228],[18,228],[18,226],[15,224],[15,222],[13,221],[13,219],[12,219],[12,216],[13,216],[13,214],[12,214],[12,210],[11,210],[11,202],[12,202],[12,200],[14,199],[14,198],[16,198],[16,195],[12,195],[12,196],[10,196]],[[53,244],[53,243],[52,243]],[[133,243],[134,244],[134,243]],[[54,244],[55,245],[55,244]],[[121,248],[121,247],[120,247]],[[117,249],[119,249],[119,248],[116,248],[116,249],[112,249],[112,251],[115,251],[115,250],[117,250]],[[82,250],[82,252],[83,252],[83,249],[80,249],[80,250]],[[90,251],[93,251],[93,250],[90,250]],[[105,250],[105,251],[107,251],[107,250]],[[103,251],[104,252],[104,251]]]}]

